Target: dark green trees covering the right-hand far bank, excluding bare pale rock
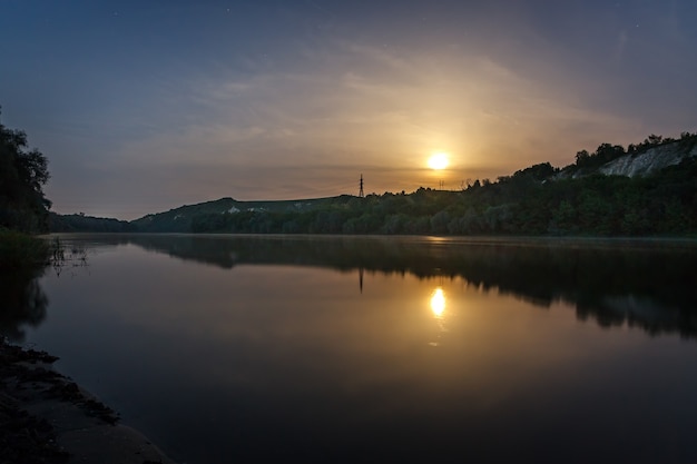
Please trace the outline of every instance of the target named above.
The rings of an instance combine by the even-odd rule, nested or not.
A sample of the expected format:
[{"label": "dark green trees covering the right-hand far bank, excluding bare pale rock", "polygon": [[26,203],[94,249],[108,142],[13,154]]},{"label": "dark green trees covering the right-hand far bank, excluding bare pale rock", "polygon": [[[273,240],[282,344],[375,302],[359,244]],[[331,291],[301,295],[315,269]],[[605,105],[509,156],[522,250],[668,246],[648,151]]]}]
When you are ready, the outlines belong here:
[{"label": "dark green trees covering the right-hand far bank, excluding bare pale rock", "polygon": [[[675,142],[650,136],[632,154]],[[684,132],[691,149],[697,135]],[[639,148],[636,148],[639,147]],[[620,155],[621,154],[621,155]],[[646,177],[560,176],[627,155],[602,144],[563,169],[549,162],[477,180],[461,191],[420,188],[412,194],[342,196],[307,211],[206,213],[193,233],[406,235],[688,235],[697,231],[697,159],[685,158]]]}]

